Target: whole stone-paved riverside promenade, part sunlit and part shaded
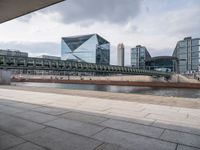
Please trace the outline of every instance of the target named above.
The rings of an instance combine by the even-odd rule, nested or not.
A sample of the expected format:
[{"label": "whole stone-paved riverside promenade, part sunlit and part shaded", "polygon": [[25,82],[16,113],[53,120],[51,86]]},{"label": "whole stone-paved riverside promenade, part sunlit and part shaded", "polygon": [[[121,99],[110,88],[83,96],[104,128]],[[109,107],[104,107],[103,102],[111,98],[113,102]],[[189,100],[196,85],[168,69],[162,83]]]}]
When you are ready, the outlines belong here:
[{"label": "whole stone-paved riverside promenade, part sunlit and part shaded", "polygon": [[0,87],[0,150],[199,150],[200,98]]}]

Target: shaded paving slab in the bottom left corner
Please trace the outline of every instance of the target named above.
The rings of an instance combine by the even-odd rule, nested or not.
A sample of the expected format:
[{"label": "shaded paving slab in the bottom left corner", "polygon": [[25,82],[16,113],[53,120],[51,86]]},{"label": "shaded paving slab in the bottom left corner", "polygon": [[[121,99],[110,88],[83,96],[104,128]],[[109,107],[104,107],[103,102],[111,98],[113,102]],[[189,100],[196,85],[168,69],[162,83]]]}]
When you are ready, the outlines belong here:
[{"label": "shaded paving slab in the bottom left corner", "polygon": [[25,141],[21,138],[15,137],[10,134],[5,134],[3,136],[0,136],[0,150],[4,150],[24,142]]}]

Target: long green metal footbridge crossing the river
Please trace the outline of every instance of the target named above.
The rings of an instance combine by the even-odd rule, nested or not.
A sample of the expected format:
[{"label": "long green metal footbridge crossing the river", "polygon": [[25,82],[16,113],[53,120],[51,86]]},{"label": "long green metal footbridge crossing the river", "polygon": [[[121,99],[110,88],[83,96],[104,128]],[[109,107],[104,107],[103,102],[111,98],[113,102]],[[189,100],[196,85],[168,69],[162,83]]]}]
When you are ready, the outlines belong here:
[{"label": "long green metal footbridge crossing the river", "polygon": [[148,75],[170,78],[170,73],[135,69],[133,67],[121,67],[115,65],[99,65],[94,63],[73,62],[64,60],[52,60],[35,57],[16,57],[0,55],[0,69],[19,70],[46,70],[66,72],[94,72],[127,75]]}]

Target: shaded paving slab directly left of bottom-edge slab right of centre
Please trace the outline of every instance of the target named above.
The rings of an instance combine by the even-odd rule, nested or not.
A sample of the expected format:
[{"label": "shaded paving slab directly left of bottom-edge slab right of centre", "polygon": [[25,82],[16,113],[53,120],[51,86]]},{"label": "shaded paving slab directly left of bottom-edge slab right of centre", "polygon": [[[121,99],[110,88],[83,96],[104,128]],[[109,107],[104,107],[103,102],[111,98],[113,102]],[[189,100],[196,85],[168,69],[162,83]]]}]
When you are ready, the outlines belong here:
[{"label": "shaded paving slab directly left of bottom-edge slab right of centre", "polygon": [[95,133],[103,129],[103,127],[101,126],[62,118],[47,122],[45,124],[51,127],[77,133],[84,136],[94,135]]}]

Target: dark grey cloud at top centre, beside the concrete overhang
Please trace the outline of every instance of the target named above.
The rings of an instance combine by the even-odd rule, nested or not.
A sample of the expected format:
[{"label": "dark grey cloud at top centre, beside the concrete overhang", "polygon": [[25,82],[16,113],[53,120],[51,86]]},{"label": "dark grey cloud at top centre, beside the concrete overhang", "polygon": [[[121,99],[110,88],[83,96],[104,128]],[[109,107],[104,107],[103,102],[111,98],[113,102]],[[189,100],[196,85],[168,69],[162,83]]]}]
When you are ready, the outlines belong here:
[{"label": "dark grey cloud at top centre, beside the concrete overhang", "polygon": [[140,11],[141,0],[67,0],[44,11],[59,12],[64,23],[126,23]]}]

